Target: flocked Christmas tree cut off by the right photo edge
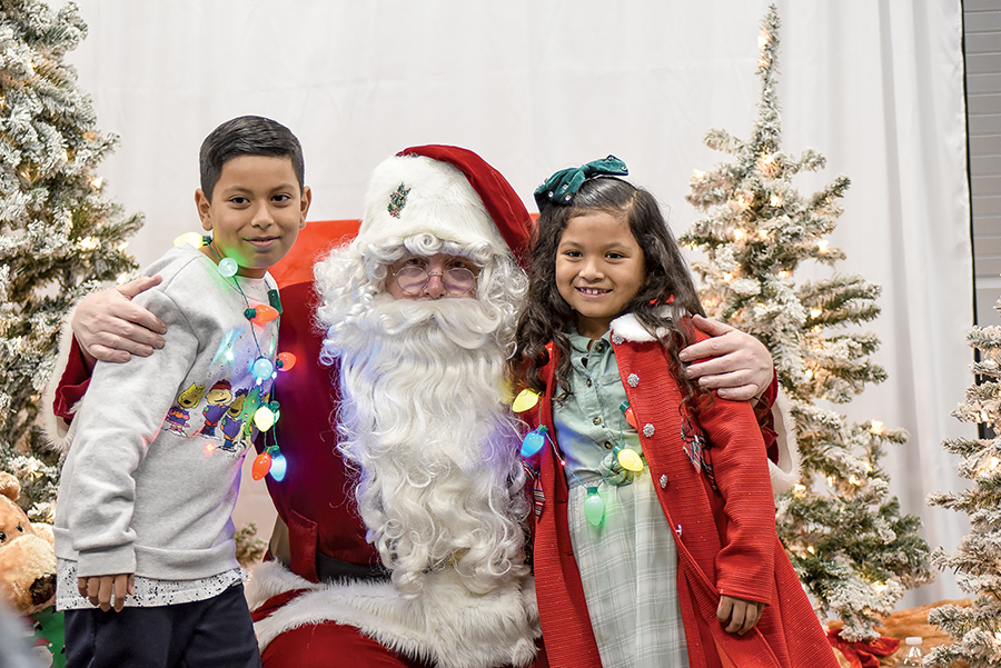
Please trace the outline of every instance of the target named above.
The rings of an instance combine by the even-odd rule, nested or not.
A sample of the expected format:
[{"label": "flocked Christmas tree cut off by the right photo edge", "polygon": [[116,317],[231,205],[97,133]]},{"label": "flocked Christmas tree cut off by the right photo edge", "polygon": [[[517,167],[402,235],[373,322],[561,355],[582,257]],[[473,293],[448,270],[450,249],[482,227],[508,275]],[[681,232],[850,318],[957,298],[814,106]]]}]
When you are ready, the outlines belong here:
[{"label": "flocked Christmas tree cut off by the right photo edge", "polygon": [[[1001,311],[1001,301],[994,308]],[[932,561],[954,570],[960,588],[974,598],[970,607],[942,606],[929,614],[952,644],[932,649],[928,665],[961,659],[971,668],[987,668],[1001,666],[1001,327],[974,327],[967,340],[979,351],[972,368],[977,381],[952,415],[983,426],[987,438],[943,441],[947,450],[962,456],[959,473],[973,486],[959,493],[932,493],[928,501],[970,518],[970,532],[957,550],[939,548]]]}]

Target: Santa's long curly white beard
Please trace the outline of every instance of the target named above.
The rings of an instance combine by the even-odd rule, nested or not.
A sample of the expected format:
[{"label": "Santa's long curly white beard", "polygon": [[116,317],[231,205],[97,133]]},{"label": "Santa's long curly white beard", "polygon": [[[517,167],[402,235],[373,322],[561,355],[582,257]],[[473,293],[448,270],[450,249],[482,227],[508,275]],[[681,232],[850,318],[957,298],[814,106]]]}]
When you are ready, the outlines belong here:
[{"label": "Santa's long curly white beard", "polygon": [[367,539],[405,597],[445,568],[476,594],[523,577],[521,437],[500,403],[512,319],[475,298],[366,301],[325,352],[340,362],[339,448]]}]

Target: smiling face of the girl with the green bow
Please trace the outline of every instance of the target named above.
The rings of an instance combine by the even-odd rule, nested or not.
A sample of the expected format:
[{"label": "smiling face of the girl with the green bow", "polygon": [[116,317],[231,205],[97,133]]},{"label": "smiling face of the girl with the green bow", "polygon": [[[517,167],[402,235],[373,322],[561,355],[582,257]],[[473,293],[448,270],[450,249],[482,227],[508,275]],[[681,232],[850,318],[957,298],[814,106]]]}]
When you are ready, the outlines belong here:
[{"label": "smiling face of the girl with the green bow", "polygon": [[556,288],[577,311],[577,331],[597,340],[646,280],[643,250],[625,218],[571,218],[556,249]]}]

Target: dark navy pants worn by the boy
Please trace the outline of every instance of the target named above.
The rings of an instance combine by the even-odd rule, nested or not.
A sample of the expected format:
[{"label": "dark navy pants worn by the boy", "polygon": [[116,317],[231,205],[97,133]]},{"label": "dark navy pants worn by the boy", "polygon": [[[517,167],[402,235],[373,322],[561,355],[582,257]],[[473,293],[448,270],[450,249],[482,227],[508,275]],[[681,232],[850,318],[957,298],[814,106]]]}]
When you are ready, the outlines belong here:
[{"label": "dark navy pants worn by the boy", "polygon": [[155,608],[66,611],[67,668],[259,668],[244,587]]}]

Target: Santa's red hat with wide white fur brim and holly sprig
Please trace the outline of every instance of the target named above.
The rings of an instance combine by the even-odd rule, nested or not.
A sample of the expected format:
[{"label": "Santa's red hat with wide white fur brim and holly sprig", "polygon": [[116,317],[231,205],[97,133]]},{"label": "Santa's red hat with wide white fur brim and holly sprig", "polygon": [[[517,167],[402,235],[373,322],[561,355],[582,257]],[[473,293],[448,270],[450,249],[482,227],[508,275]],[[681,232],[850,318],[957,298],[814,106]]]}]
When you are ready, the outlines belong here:
[{"label": "Santa's red hat with wide white fur brim and holly sprig", "polygon": [[458,243],[484,242],[528,258],[532,220],[511,183],[483,158],[453,146],[404,149],[375,168],[358,243],[429,232]]}]

